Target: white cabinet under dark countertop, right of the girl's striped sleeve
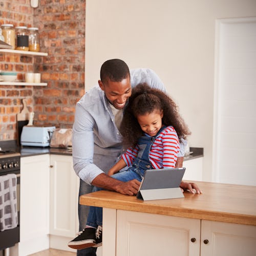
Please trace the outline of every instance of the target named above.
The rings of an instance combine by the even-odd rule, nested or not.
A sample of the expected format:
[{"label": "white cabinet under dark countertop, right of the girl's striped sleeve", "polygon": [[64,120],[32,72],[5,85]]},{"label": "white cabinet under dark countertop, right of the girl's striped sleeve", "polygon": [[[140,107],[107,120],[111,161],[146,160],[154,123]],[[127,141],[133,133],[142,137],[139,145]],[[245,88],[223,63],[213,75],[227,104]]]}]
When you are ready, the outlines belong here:
[{"label": "white cabinet under dark countertop, right of the girl's striped sleeve", "polygon": [[195,158],[183,161],[183,167],[186,167],[183,180],[203,180],[203,158]]}]

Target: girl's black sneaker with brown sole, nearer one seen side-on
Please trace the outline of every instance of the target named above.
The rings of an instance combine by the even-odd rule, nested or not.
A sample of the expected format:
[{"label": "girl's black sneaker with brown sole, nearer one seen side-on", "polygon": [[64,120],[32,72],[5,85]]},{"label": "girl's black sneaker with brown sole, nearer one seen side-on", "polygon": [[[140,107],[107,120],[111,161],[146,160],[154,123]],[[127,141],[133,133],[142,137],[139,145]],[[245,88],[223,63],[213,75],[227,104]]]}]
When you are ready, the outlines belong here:
[{"label": "girl's black sneaker with brown sole, nearer one seen side-on", "polygon": [[78,236],[68,243],[70,248],[81,250],[96,245],[96,229],[92,227],[84,228]]}]

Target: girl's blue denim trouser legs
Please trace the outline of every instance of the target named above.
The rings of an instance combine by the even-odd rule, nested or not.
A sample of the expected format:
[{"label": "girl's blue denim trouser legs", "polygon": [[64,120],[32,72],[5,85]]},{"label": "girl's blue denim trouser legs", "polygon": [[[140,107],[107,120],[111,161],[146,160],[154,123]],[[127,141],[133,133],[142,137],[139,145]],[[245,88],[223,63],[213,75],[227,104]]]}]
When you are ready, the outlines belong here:
[{"label": "girl's blue denim trouser legs", "polygon": [[[112,175],[111,177],[123,182],[134,180],[134,179],[141,181],[143,177],[143,172],[141,173],[140,170],[134,169],[134,167],[132,166],[121,173],[116,173]],[[99,190],[103,190],[103,188],[101,187],[93,188],[93,192],[99,191]],[[87,218],[87,225],[95,228],[97,228],[97,226],[102,226],[102,208],[101,207],[90,206],[90,210]]]}]

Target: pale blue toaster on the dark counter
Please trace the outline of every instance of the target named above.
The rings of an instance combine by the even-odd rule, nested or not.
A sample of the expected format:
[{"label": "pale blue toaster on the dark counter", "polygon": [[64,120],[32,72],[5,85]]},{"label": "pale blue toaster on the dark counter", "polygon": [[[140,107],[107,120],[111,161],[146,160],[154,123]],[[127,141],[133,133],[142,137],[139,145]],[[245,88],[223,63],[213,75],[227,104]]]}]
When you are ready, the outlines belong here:
[{"label": "pale blue toaster on the dark counter", "polygon": [[25,125],[20,135],[22,146],[49,146],[55,126]]}]

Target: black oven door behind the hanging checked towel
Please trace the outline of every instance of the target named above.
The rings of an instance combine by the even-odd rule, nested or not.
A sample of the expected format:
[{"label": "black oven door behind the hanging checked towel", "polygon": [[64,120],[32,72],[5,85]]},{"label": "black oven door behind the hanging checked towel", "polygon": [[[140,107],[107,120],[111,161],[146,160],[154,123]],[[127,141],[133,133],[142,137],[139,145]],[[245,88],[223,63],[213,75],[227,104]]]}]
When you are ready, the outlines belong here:
[{"label": "black oven door behind the hanging checked towel", "polygon": [[[17,211],[18,211],[18,225],[15,228],[0,231],[0,251],[14,246],[19,242],[19,207],[20,207],[20,172],[14,171],[17,176]],[[3,174],[2,174],[3,175]]]}]

